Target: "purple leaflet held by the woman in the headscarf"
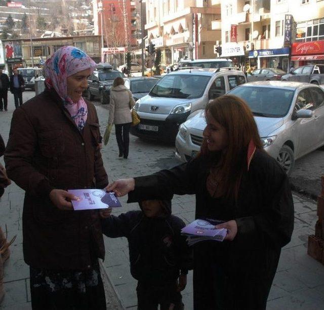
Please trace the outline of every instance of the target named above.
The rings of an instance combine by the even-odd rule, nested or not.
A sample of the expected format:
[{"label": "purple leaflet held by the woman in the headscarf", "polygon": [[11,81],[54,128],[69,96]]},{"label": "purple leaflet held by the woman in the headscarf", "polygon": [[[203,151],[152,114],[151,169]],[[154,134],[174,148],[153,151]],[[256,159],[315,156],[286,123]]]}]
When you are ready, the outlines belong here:
[{"label": "purple leaflet held by the woman in the headscarf", "polygon": [[106,192],[103,189],[69,189],[69,193],[72,193],[78,198],[78,200],[72,200],[72,206],[74,210],[92,210],[92,209],[107,209],[121,207],[121,204],[115,193],[110,191]]}]

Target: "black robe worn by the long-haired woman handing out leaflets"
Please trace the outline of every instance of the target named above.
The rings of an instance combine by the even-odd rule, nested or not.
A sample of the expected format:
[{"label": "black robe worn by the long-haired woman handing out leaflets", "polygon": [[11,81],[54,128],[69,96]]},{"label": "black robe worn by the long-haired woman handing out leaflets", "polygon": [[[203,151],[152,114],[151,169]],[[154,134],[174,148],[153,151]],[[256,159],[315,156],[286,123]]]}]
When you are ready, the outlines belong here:
[{"label": "black robe worn by the long-haired woman handing out leaflets", "polygon": [[195,310],[261,310],[277,268],[280,250],[290,242],[294,205],[287,175],[264,151],[256,150],[241,179],[238,199],[210,197],[207,158],[200,156],[170,170],[135,178],[129,202],[149,192],[195,194],[196,218],[235,219],[232,242],[194,246]]}]

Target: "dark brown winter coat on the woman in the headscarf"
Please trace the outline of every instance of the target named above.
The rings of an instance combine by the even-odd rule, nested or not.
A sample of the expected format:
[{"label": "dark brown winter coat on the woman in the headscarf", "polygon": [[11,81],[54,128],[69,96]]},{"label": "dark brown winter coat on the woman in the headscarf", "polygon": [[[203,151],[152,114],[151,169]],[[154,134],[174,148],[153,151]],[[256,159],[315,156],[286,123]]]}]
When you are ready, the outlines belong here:
[{"label": "dark brown winter coat on the woman in the headscarf", "polygon": [[79,132],[57,93],[45,90],[13,114],[5,151],[8,176],[23,188],[23,252],[34,268],[87,269],[104,258],[97,210],[61,211],[53,188],[104,188],[108,177],[95,107]]}]

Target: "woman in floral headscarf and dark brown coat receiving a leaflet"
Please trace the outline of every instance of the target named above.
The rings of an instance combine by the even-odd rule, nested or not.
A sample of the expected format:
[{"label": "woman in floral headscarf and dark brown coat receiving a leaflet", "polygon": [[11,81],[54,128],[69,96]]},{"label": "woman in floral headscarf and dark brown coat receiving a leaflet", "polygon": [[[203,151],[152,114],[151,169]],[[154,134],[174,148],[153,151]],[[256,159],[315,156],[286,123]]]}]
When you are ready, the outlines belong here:
[{"label": "woman in floral headscarf and dark brown coat receiving a leaflet", "polygon": [[104,188],[94,105],[82,93],[96,63],[65,46],[44,66],[46,89],[13,113],[8,176],[25,190],[23,252],[33,309],[106,309],[100,214],[73,211],[70,188]]}]

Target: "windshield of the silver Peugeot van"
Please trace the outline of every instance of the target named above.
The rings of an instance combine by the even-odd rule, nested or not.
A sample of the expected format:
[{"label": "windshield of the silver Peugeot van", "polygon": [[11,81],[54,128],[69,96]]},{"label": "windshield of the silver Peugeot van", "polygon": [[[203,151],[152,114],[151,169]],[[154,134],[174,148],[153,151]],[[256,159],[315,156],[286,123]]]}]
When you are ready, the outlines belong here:
[{"label": "windshield of the silver Peugeot van", "polygon": [[157,82],[149,95],[169,98],[199,98],[203,96],[210,79],[211,77],[206,75],[169,74]]}]

